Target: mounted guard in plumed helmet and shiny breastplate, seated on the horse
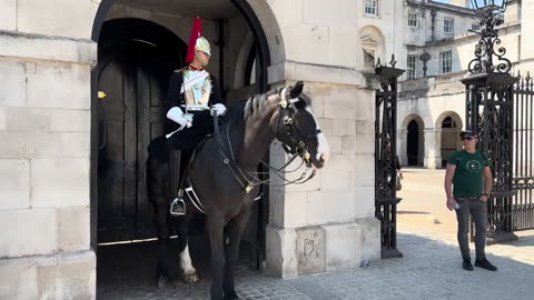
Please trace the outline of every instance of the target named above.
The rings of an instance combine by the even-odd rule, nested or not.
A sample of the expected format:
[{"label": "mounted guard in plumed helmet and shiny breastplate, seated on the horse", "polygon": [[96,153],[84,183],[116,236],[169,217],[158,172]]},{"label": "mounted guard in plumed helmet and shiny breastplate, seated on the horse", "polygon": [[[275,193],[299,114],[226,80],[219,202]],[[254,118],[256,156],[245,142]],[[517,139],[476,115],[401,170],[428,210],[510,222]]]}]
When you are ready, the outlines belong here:
[{"label": "mounted guard in plumed helmet and shiny breastplate, seated on the horse", "polygon": [[170,148],[170,186],[172,216],[186,213],[182,199],[180,168],[189,154],[182,150],[192,150],[207,134],[214,131],[212,114],[226,112],[222,98],[214,76],[205,70],[211,51],[208,40],[201,37],[200,18],[196,18],[186,57],[187,67],[172,72],[167,93],[167,118],[179,124],[178,130],[167,134]]}]

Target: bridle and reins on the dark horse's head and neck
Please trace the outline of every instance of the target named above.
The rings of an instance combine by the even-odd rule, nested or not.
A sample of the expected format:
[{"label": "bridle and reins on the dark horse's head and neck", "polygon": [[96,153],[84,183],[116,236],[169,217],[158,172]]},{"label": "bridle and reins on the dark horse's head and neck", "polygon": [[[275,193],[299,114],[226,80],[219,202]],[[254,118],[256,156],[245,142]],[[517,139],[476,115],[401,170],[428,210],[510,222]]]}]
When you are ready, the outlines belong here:
[{"label": "bridle and reins on the dark horse's head and neck", "polygon": [[[287,180],[281,173],[290,173],[295,172],[300,167],[303,163],[306,163],[306,167],[309,169],[312,167],[312,161],[310,158],[312,156],[309,154],[308,147],[306,146],[306,142],[309,141],[312,138],[315,136],[319,134],[322,131],[320,129],[315,129],[310,133],[306,136],[301,136],[300,132],[298,131],[298,128],[295,126],[294,122],[294,111],[289,109],[289,106],[293,106],[294,103],[301,101],[300,98],[290,98],[290,93],[288,91],[288,88],[285,88],[280,92],[280,102],[278,106],[278,121],[276,123],[275,132],[278,132],[278,126],[280,122],[284,122],[284,127],[286,129],[286,134],[289,136],[289,140],[291,142],[290,146],[281,142],[283,149],[291,156],[291,158],[288,160],[286,164],[284,164],[281,168],[275,168],[265,161],[261,160],[261,164],[267,167],[275,176],[280,178],[285,183],[281,184],[273,184],[270,183],[271,179],[267,180],[261,180],[259,178],[260,174],[267,174],[269,172],[249,172],[245,171],[239,163],[236,161],[236,158],[234,156],[234,151],[231,149],[231,143],[230,143],[230,137],[229,137],[229,126],[230,122],[228,122],[227,127],[227,143],[228,148],[224,144],[222,139],[220,138],[220,131],[219,131],[219,121],[217,113],[214,114],[214,133],[215,133],[215,139],[217,140],[217,143],[219,146],[219,152],[222,154],[224,160],[222,162],[228,167],[228,169],[231,171],[234,177],[236,178],[237,182],[243,187],[244,192],[249,193],[254,187],[259,186],[261,183],[273,186],[273,187],[283,187],[283,186],[288,186],[288,184],[303,184],[306,181],[310,180],[312,178],[315,177],[316,170],[314,169],[313,172],[306,177],[305,171],[300,178],[296,180]],[[298,166],[295,170],[291,171],[285,171],[284,169],[289,166],[297,157],[303,159],[303,163]]]}]

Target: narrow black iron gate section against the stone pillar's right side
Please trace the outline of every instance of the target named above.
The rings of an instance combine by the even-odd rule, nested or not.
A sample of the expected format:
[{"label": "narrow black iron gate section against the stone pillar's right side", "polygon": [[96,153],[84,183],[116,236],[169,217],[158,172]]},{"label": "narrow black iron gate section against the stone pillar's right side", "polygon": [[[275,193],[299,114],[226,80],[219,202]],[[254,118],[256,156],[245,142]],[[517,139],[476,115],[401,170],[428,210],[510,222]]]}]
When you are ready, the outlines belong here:
[{"label": "narrow black iron gate section against the stone pillar's right side", "polygon": [[[394,59],[392,59],[392,62]],[[382,258],[398,258],[396,197],[397,78],[404,70],[375,69],[382,89],[376,91],[375,111],[375,217],[380,220]]]}]

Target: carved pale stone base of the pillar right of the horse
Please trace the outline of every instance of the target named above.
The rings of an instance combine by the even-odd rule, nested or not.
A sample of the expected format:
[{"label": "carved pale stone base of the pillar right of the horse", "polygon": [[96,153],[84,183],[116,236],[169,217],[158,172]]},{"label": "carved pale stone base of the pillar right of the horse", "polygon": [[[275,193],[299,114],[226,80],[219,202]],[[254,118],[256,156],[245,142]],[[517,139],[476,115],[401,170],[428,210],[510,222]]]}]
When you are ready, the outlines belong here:
[{"label": "carved pale stone base of the pillar right of the horse", "polygon": [[290,229],[269,224],[266,272],[289,278],[358,268],[380,259],[379,229],[375,218]]}]

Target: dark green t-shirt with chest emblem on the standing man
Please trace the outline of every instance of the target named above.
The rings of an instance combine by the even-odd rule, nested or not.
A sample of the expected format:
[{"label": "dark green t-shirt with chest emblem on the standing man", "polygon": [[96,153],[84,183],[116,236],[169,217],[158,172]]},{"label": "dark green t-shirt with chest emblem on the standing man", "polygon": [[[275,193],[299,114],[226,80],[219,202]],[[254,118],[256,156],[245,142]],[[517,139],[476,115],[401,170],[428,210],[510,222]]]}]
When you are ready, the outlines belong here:
[{"label": "dark green t-shirt with chest emblem on the standing man", "polygon": [[490,166],[487,158],[478,150],[468,153],[465,150],[454,151],[448,163],[456,166],[453,178],[453,196],[481,197],[484,191],[484,167]]}]

